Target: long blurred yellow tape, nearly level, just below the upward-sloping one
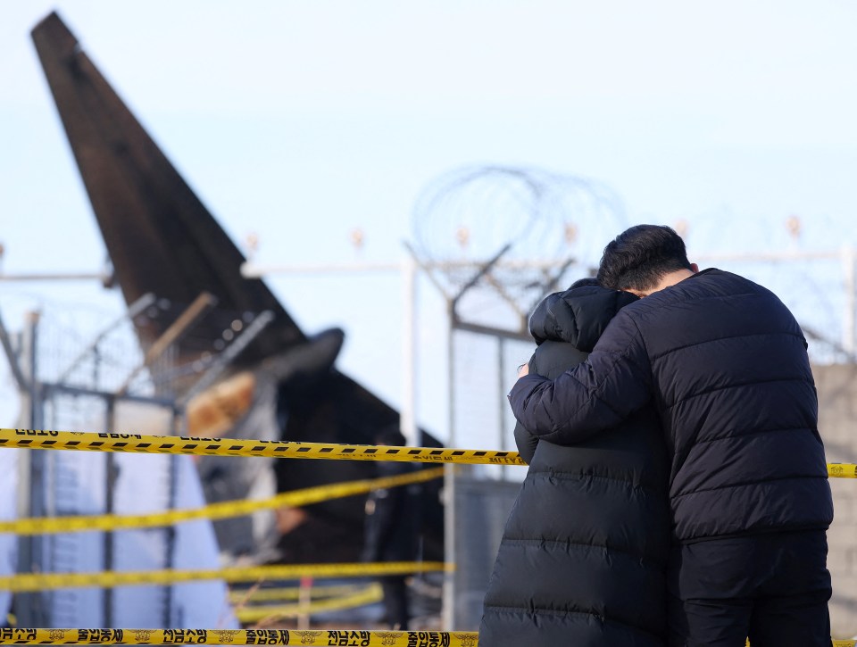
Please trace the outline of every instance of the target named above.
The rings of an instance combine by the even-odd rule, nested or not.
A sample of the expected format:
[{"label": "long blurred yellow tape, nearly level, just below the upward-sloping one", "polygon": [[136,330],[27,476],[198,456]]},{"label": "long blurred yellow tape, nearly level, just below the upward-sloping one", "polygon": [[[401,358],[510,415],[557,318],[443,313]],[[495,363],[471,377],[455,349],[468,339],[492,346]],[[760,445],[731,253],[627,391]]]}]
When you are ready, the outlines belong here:
[{"label": "long blurred yellow tape, nearly level, just below the upward-sloping one", "polygon": [[288,564],[218,568],[212,570],[105,571],[102,573],[19,573],[0,577],[0,591],[24,592],[80,586],[168,585],[176,582],[222,579],[226,582],[254,582],[261,579],[298,579],[299,577],[357,577],[406,575],[429,571],[452,572],[454,566],[442,561],[386,561],[348,564]]}]

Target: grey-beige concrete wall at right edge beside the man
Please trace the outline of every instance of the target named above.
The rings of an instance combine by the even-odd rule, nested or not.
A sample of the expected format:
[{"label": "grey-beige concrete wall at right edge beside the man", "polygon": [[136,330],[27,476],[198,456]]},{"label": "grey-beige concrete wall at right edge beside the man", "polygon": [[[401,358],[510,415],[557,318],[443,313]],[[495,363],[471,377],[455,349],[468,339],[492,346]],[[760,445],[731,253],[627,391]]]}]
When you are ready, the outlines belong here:
[{"label": "grey-beige concrete wall at right edge beside the man", "polygon": [[[828,463],[857,463],[857,364],[814,366],[819,431]],[[857,480],[831,478],[834,522],[828,532],[828,568],[834,638],[857,635]]]}]

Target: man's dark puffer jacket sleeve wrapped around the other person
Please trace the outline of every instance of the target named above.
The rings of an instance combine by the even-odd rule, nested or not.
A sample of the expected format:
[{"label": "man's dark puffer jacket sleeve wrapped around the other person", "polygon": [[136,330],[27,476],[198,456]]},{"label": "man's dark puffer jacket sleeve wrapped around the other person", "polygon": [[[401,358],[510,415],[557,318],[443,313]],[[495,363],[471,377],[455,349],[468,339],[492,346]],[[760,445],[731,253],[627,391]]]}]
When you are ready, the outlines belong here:
[{"label": "man's dark puffer jacket sleeve wrapped around the other person", "polygon": [[528,375],[512,386],[512,411],[530,434],[553,444],[577,444],[649,402],[652,369],[631,308],[612,320],[584,363],[553,381]]}]

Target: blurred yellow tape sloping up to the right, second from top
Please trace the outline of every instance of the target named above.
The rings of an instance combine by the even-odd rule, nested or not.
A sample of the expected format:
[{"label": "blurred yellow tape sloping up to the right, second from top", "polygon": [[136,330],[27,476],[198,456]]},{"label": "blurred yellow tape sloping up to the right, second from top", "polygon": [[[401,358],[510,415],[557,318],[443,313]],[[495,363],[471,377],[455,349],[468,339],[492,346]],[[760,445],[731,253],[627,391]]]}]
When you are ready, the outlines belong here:
[{"label": "blurred yellow tape sloping up to the right, second from top", "polygon": [[192,510],[162,510],[140,515],[91,515],[75,517],[37,517],[0,521],[0,533],[40,535],[46,533],[79,533],[94,530],[112,531],[128,528],[171,526],[199,518],[229,518],[289,506],[298,508],[311,503],[329,501],[354,494],[365,494],[380,488],[421,483],[444,475],[443,468],[422,469],[395,477],[365,478],[358,481],[307,487],[277,494],[268,499],[225,501],[211,503]]}]

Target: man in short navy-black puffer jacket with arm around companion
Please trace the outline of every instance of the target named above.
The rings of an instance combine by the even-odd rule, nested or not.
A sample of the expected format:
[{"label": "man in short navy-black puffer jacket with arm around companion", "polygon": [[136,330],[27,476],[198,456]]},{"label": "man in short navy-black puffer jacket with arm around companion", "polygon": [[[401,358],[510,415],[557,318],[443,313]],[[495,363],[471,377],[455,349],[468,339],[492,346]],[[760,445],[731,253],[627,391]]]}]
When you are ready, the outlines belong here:
[{"label": "man in short navy-black puffer jacket with arm around companion", "polygon": [[698,272],[670,228],[628,229],[599,281],[623,308],[585,364],[521,377],[521,424],[577,444],[654,404],[670,453],[670,644],[829,647],[833,519],[801,328],[776,295]]}]

